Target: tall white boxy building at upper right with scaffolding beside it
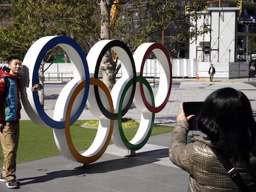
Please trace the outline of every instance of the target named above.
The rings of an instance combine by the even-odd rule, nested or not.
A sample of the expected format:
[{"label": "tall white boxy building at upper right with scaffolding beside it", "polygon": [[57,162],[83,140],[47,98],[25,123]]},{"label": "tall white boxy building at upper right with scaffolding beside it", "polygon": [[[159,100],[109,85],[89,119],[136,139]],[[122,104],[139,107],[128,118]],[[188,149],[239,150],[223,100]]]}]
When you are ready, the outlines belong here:
[{"label": "tall white boxy building at upper right with scaffolding beside it", "polygon": [[208,77],[210,64],[218,69],[216,77],[248,77],[256,36],[255,6],[252,1],[226,1],[198,13],[200,18],[194,24],[198,28],[207,25],[211,29],[210,33],[198,35],[190,41],[189,59],[198,62],[200,77]]}]

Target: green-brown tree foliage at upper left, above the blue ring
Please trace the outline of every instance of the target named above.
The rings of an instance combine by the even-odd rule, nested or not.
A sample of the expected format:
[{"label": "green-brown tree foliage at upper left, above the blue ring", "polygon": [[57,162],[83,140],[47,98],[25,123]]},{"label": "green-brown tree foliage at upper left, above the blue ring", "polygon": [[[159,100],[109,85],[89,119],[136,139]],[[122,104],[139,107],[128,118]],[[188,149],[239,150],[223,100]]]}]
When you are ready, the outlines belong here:
[{"label": "green-brown tree foliage at upper left, above the blue ring", "polygon": [[10,2],[13,12],[6,17],[11,18],[11,26],[0,28],[2,58],[24,56],[33,42],[48,35],[72,36],[86,50],[91,45],[83,44],[84,40],[95,36],[99,29],[93,20],[96,4],[88,1]]}]

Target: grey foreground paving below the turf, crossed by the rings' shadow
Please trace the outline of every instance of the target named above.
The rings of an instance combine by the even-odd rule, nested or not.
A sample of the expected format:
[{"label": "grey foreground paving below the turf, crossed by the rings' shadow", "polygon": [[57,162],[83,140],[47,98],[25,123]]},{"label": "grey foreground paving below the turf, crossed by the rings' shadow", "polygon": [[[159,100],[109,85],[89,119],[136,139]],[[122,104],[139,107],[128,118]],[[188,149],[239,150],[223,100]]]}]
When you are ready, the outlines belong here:
[{"label": "grey foreground paving below the turf, crossed by the rings' shadow", "polygon": [[[189,175],[169,161],[170,135],[151,136],[137,156],[130,158],[124,157],[126,151],[110,145],[89,167],[62,156],[19,164],[17,178],[22,185],[17,191],[185,192]],[[0,183],[0,191],[10,189]]]}]

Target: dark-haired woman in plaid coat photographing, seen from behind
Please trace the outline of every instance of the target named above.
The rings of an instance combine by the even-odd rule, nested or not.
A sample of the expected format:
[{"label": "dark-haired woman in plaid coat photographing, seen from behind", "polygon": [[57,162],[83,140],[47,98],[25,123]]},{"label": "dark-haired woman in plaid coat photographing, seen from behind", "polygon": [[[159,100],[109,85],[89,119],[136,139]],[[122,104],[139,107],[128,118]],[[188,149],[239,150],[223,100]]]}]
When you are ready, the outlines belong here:
[{"label": "dark-haired woman in plaid coat photographing, seen from behind", "polygon": [[[197,115],[198,130],[206,136],[195,136],[187,144],[188,120],[193,117],[186,117],[181,105],[169,144],[170,160],[189,173],[187,191],[256,191],[256,122],[245,94],[233,88],[211,93]],[[245,190],[239,189],[216,154],[231,162],[234,169],[229,175],[237,171]]]}]

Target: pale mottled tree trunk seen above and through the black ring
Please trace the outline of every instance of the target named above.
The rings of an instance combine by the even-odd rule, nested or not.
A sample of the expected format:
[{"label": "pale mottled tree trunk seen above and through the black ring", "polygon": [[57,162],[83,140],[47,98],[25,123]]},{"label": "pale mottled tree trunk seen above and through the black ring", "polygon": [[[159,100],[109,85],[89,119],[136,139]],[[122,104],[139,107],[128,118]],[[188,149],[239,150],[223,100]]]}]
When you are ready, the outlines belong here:
[{"label": "pale mottled tree trunk seen above and through the black ring", "polygon": [[[101,40],[110,39],[110,10],[111,10],[111,0],[101,0],[100,10],[101,10]],[[100,65],[102,70],[103,82],[108,87],[109,91],[112,90],[114,83],[116,83],[116,63],[112,59],[111,50],[106,52]]]}]

